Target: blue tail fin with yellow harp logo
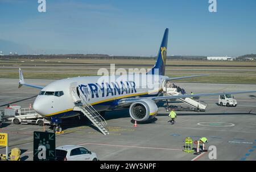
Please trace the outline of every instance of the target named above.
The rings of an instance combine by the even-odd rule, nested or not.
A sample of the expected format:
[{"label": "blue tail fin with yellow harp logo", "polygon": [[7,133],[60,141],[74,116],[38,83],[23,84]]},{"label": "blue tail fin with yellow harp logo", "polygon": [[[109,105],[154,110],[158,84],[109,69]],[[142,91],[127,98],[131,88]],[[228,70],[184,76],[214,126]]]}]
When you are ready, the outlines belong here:
[{"label": "blue tail fin with yellow harp logo", "polygon": [[155,66],[148,72],[148,74],[156,75],[158,73],[158,75],[164,75],[164,71],[166,69],[168,32],[169,32],[169,29],[166,28],[166,31],[164,31],[163,40],[158,52],[158,59],[156,60]]}]

